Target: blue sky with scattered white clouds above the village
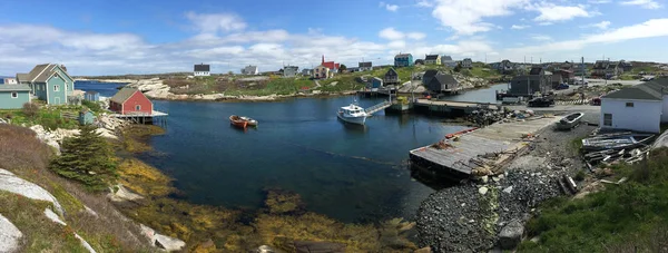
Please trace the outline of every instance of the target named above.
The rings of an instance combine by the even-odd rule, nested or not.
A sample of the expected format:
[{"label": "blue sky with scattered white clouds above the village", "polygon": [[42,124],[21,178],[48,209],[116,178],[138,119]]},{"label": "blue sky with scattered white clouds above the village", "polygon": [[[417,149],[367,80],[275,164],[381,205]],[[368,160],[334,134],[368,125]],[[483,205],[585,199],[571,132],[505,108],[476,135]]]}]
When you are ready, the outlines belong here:
[{"label": "blue sky with scattered white clouds above the village", "polygon": [[668,62],[668,0],[2,0],[0,75],[356,67],[400,52],[475,61]]}]

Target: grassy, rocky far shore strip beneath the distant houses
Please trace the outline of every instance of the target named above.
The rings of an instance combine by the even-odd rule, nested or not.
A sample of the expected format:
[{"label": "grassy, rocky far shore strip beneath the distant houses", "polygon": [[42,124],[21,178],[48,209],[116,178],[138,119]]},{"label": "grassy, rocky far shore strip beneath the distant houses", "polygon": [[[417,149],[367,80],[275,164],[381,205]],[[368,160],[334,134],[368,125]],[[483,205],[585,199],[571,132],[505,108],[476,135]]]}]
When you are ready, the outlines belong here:
[{"label": "grassy, rocky far shore strip beneath the distant houses", "polygon": [[[365,87],[365,79],[383,78],[389,67],[362,71],[337,74],[330,79],[311,80],[308,77],[281,76],[233,76],[213,75],[191,77],[189,74],[165,74],[118,77],[81,77],[77,80],[97,80],[100,82],[122,82],[127,87],[144,91],[149,98],[161,100],[208,100],[208,101],[275,101],[295,97],[332,97],[354,95]],[[454,71],[444,66],[414,66],[395,68],[403,82],[420,82],[418,74],[428,69],[438,69],[452,74],[464,90],[489,87],[492,82],[505,81],[507,76],[477,62],[472,69]],[[400,94],[424,91],[422,85],[411,88],[400,87]]]}]

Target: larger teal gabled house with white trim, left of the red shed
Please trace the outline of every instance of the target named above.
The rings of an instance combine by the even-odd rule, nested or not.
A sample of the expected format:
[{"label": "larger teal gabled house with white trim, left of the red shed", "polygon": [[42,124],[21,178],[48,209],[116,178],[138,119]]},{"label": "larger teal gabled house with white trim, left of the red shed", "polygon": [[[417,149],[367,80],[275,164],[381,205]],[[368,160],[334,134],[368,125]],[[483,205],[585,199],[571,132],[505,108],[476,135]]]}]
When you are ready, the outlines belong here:
[{"label": "larger teal gabled house with white trim, left of the red shed", "polygon": [[75,91],[75,79],[62,65],[38,65],[29,74],[17,74],[17,79],[30,87],[31,95],[49,105],[67,105]]}]

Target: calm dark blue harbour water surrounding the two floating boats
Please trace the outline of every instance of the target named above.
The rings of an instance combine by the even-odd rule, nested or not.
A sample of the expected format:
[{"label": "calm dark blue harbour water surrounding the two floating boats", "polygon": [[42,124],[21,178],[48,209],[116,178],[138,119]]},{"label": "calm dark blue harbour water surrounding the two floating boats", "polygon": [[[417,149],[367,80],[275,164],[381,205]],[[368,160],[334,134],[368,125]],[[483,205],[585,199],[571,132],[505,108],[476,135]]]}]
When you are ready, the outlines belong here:
[{"label": "calm dark blue harbour water surrounding the two floating boats", "polygon": [[[89,88],[100,91],[98,86]],[[86,90],[82,87],[77,86]],[[493,89],[474,93],[453,99],[494,98]],[[433,189],[411,178],[407,152],[464,127],[382,111],[365,127],[345,125],[335,111],[353,98],[154,101],[169,114],[167,134],[151,138],[154,152],[139,158],[174,177],[177,188],[197,204],[255,210],[263,205],[263,189],[278,187],[301,194],[307,210],[344,222],[412,220]],[[250,116],[259,127],[246,132],[230,127],[227,118],[233,114]]]}]

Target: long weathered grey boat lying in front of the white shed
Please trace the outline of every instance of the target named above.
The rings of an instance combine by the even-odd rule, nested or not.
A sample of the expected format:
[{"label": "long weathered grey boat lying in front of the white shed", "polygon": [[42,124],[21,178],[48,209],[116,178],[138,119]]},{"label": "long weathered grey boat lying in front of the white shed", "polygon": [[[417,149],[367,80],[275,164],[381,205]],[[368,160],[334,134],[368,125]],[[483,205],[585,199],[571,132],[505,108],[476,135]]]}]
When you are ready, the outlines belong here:
[{"label": "long weathered grey boat lying in front of the white shed", "polygon": [[606,149],[632,149],[642,145],[647,145],[654,137],[655,135],[651,134],[592,137],[582,139],[582,148],[588,152]]}]

